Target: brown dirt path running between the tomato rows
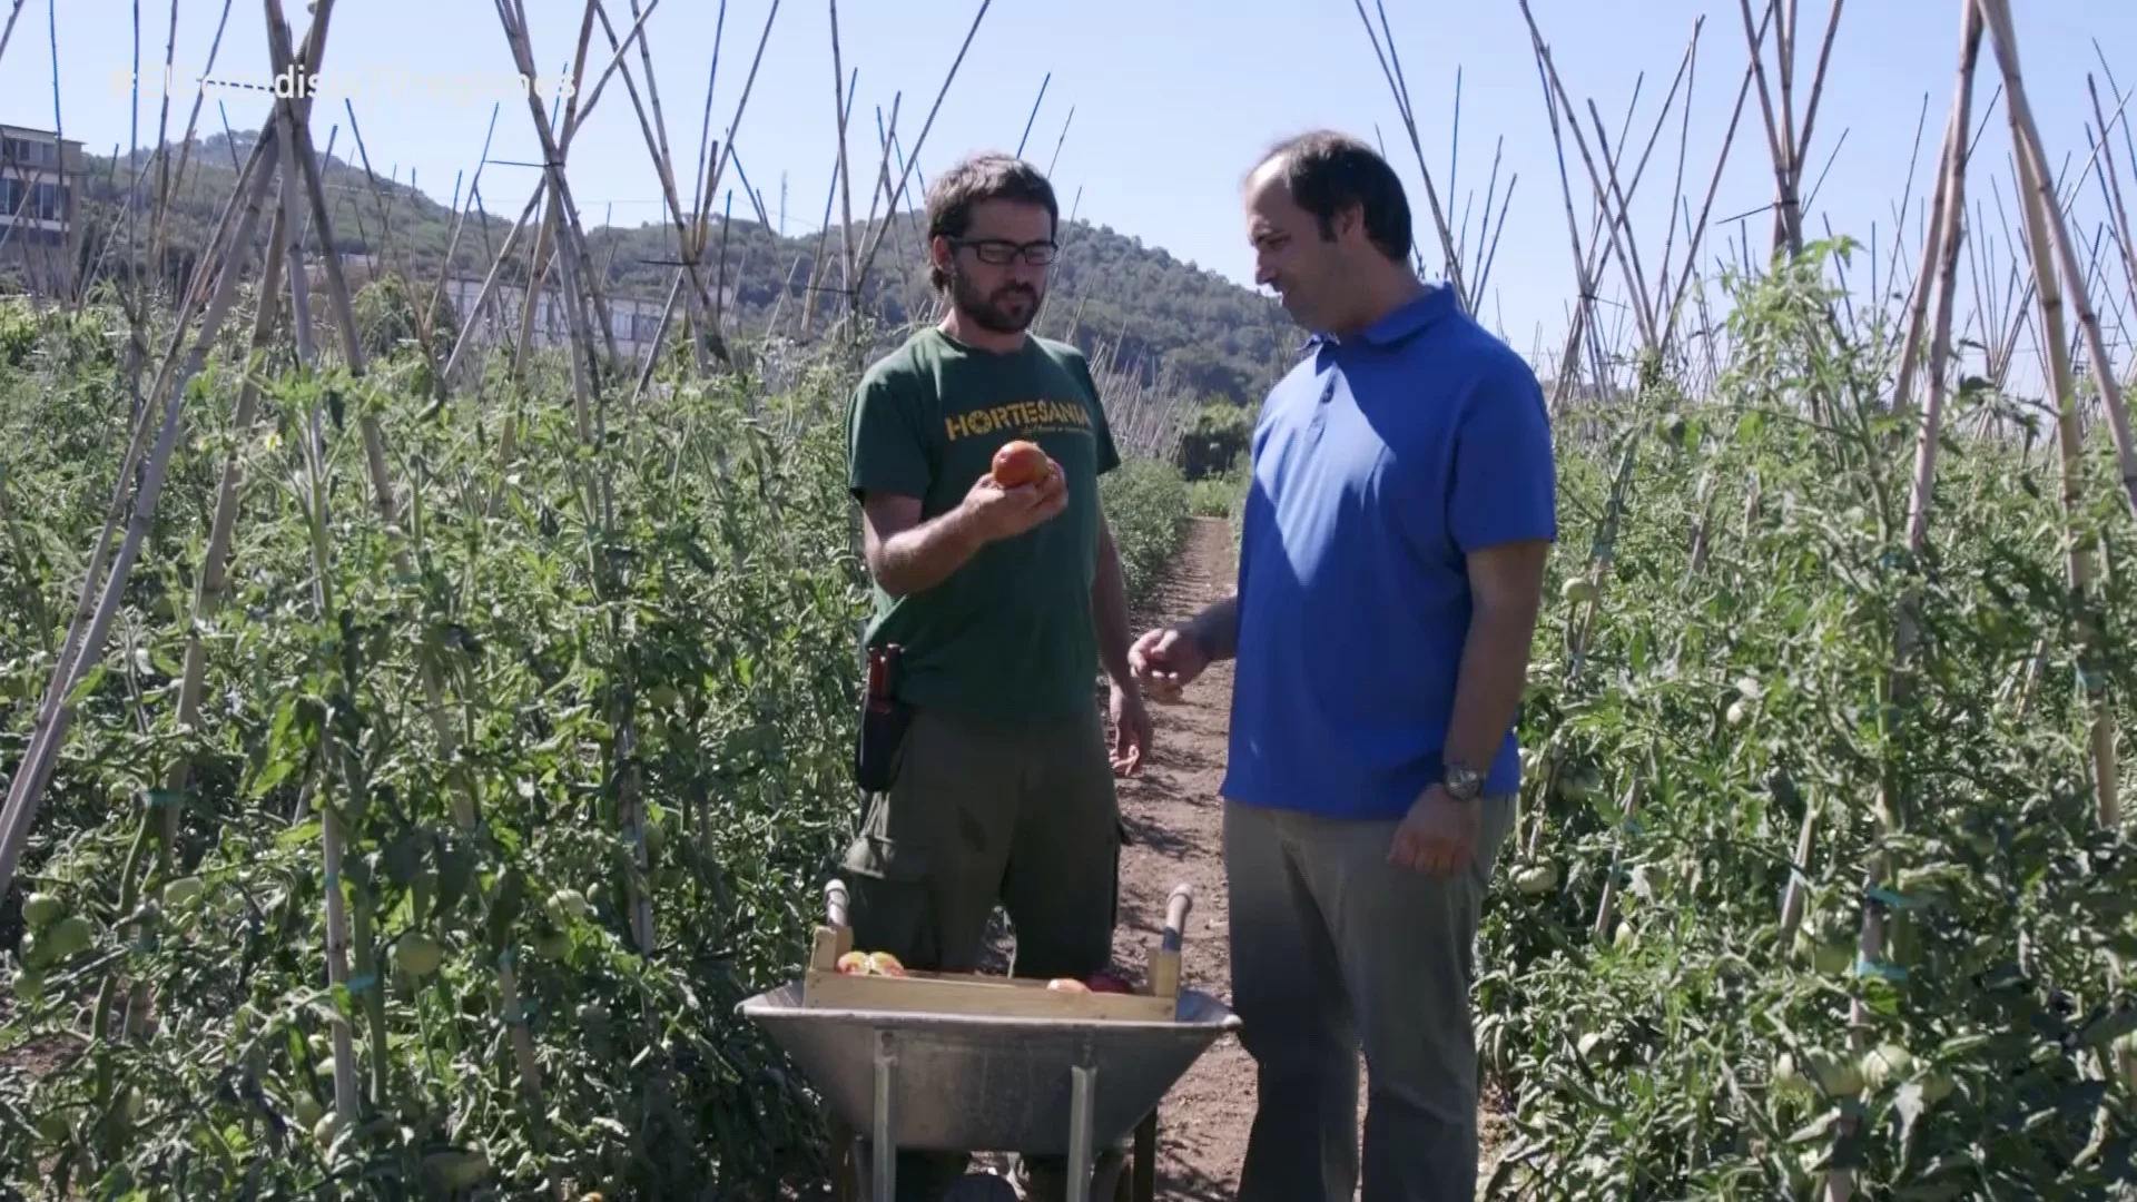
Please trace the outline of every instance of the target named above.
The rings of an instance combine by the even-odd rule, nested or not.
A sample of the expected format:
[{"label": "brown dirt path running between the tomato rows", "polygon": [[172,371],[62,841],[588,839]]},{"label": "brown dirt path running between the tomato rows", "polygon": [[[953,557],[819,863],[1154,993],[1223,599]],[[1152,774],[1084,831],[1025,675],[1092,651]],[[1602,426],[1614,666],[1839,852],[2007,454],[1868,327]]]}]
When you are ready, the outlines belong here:
[{"label": "brown dirt path running between the tomato rows", "polygon": [[[1137,614],[1135,631],[1195,616],[1233,588],[1231,528],[1225,520],[1188,524],[1173,567]],[[1182,947],[1182,977],[1218,999],[1231,997],[1225,858],[1218,783],[1231,721],[1231,663],[1216,663],[1186,689],[1182,704],[1154,706],[1156,738],[1143,770],[1120,783],[1130,847],[1120,862],[1120,928],[1113,960],[1141,965],[1165,926],[1173,888],[1195,890]],[[1254,1121],[1254,1063],[1235,1037],[1218,1039],[1158,1108],[1158,1198],[1220,1202],[1233,1198],[1246,1131]]]}]

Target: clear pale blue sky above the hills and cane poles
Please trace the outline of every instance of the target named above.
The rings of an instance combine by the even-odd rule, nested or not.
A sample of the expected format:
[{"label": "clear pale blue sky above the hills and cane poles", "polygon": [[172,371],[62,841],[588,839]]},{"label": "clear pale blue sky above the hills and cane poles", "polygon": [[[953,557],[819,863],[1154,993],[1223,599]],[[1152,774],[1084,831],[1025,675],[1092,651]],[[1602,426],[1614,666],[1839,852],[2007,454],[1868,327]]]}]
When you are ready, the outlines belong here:
[{"label": "clear pale blue sky above the hills and cane poles", "polygon": [[[291,19],[303,28],[301,4],[288,0]],[[609,0],[618,32],[630,24],[630,0]],[[1733,2],[1720,0],[1530,0],[1551,47],[1560,77],[1575,105],[1586,111],[1594,98],[1611,139],[1641,73],[1633,143],[1645,141],[1663,94],[1678,71],[1697,17],[1705,15],[1699,60],[1690,152],[1682,190],[1697,212],[1735,88],[1746,64],[1744,19]],[[132,56],[132,0],[60,0],[58,75],[60,120],[71,137],[96,152],[130,143],[132,101],[115,86]],[[534,53],[543,71],[568,64],[579,26],[577,0],[526,0]],[[771,0],[729,0],[720,47],[718,81],[712,98],[714,133],[733,118],[756,51]],[[1366,4],[1372,11],[1372,2]],[[1797,68],[1797,111],[1801,113],[1816,64],[1816,38],[1827,4],[1804,2]],[[2022,68],[2043,126],[2052,160],[2088,154],[2084,120],[2090,115],[2086,73],[2101,73],[2094,38],[2124,90],[2137,88],[2137,4],[2013,4]],[[216,36],[220,0],[182,0],[177,24],[180,73],[197,73],[207,62]],[[977,0],[844,0],[838,4],[840,53],[846,71],[859,71],[855,128],[848,154],[857,178],[872,180],[876,163],[876,105],[885,118],[891,96],[902,92],[898,130],[910,150],[934,105],[942,73],[957,56],[977,11]],[[1891,248],[1893,207],[1908,178],[1908,154],[1928,94],[1921,130],[1915,199],[1908,222],[1919,237],[1928,195],[1928,165],[1936,154],[1949,109],[1960,4],[1951,0],[1853,0],[1842,9],[1827,94],[1821,103],[1810,152],[1812,173],[1827,171],[1838,139],[1838,158],[1816,192],[1806,227],[1823,233],[1853,233],[1868,244],[1872,222],[1883,252]],[[667,118],[669,143],[680,160],[695,163],[705,111],[705,75],[714,45],[718,0],[662,0],[648,30],[654,71]],[[1483,192],[1496,141],[1504,135],[1498,190],[1519,175],[1504,222],[1492,293],[1481,314],[1504,329],[1528,353],[1539,336],[1556,340],[1573,293],[1571,250],[1549,118],[1539,88],[1528,30],[1515,0],[1472,0],[1468,4],[1389,4],[1395,47],[1408,79],[1417,133],[1434,184],[1451,220],[1470,212],[1470,242],[1481,225]],[[141,4],[141,58],[154,71],[162,60],[169,9],[156,0]],[[0,122],[53,124],[53,49],[47,0],[30,0],[0,60]],[[590,73],[609,51],[596,30]],[[633,66],[637,53],[633,51]],[[1772,62],[1772,60],[1769,60]],[[216,75],[259,79],[267,75],[261,6],[235,2],[222,38]],[[365,77],[355,94],[357,120],[380,173],[395,173],[440,199],[451,199],[455,173],[472,171],[492,120],[494,92],[455,103],[436,98],[421,81],[457,75],[506,75],[513,62],[485,0],[342,0],[336,9],[327,68]],[[1455,71],[1462,71],[1460,175],[1449,180],[1453,139]],[[1975,115],[1994,90],[1996,60],[1983,51]],[[376,73],[376,75],[374,75]],[[402,75],[404,73],[404,75]],[[1111,225],[1145,244],[1165,246],[1180,259],[1201,263],[1242,282],[1252,280],[1237,184],[1242,171],[1274,139],[1308,128],[1336,126],[1374,135],[1378,126],[1389,154],[1413,188],[1419,233],[1428,240],[1428,265],[1438,263],[1415,152],[1402,130],[1387,81],[1374,60],[1353,0],[1079,0],[1039,4],[994,0],[972,38],[970,51],[927,130],[919,152],[925,173],[932,165],[979,148],[1015,148],[1024,135],[1041,79],[1051,83],[1030,130],[1026,152],[1041,165],[1054,158],[1056,139],[1075,109],[1066,143],[1054,167],[1062,203],[1077,201],[1079,216]],[[402,75],[417,88],[395,94],[389,79]],[[2116,98],[2101,77],[2105,105]],[[173,135],[184,128],[190,94],[173,101]],[[224,96],[233,126],[254,126],[265,105],[252,96]],[[139,141],[154,139],[158,105],[139,109]],[[1637,235],[1648,269],[1660,257],[1667,222],[1665,199],[1675,175],[1680,107],[1656,143],[1648,178],[1641,182]],[[214,98],[201,111],[201,128],[220,128]],[[314,109],[316,137],[325,143],[340,126],[338,152],[348,154],[348,118],[336,98]],[[814,229],[823,218],[825,190],[836,154],[833,68],[827,0],[780,0],[763,64],[750,92],[735,139],[750,184],[780,218],[780,186],[786,184],[784,225],[789,233]],[[1592,143],[1590,143],[1592,145]],[[2002,180],[2011,203],[2005,109],[1994,111],[1981,143],[1983,167]],[[2116,145],[2122,152],[2118,139]],[[496,120],[492,158],[532,160],[536,141],[524,101],[506,103]],[[1581,235],[1588,235],[1588,182],[1571,141],[1566,148]],[[1772,199],[1772,167],[1765,148],[1757,92],[1731,152],[1729,171],[1714,201],[1714,218],[1757,210]],[[2122,156],[2124,184],[2131,163]],[[528,167],[492,163],[483,173],[483,195],[494,212],[517,214],[532,182]],[[611,83],[596,115],[571,154],[573,188],[588,222],[658,220],[660,188],[645,154],[628,96]],[[733,186],[729,173],[724,186]],[[1449,188],[1451,184],[1451,188]],[[1475,192],[1475,199],[1470,197]],[[1983,201],[1990,231],[2000,242],[1994,190],[1977,175],[1975,199]],[[684,201],[688,203],[688,188]],[[718,212],[718,203],[714,210]],[[746,212],[735,195],[735,212]],[[868,210],[865,188],[857,188],[855,216]],[[836,210],[833,210],[836,212]],[[2079,227],[2090,231],[2103,205],[2096,186],[2077,205]],[[1763,244],[1763,218],[1748,227]],[[1725,252],[1735,227],[1710,233],[1707,259]],[[1684,237],[1678,235],[1682,261]],[[1913,257],[1908,250],[1906,257]],[[1868,265],[1857,274],[1866,276]],[[1885,267],[1881,265],[1883,274]],[[1868,278],[1859,280],[1868,287]]]}]

